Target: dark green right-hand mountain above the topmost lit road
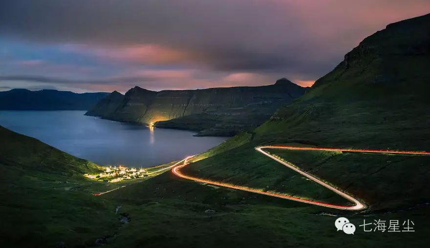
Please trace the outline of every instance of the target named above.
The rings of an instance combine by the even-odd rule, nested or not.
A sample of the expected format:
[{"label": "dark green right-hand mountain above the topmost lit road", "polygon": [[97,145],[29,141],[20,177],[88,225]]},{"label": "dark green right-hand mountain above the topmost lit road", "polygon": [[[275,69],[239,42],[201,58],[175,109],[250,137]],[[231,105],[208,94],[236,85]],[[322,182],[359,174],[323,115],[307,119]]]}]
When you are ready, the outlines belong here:
[{"label": "dark green right-hand mountain above the topmost lit road", "polygon": [[367,37],[308,93],[281,107],[257,136],[288,128],[291,139],[316,144],[426,149],[429,30],[430,14],[389,24]]}]

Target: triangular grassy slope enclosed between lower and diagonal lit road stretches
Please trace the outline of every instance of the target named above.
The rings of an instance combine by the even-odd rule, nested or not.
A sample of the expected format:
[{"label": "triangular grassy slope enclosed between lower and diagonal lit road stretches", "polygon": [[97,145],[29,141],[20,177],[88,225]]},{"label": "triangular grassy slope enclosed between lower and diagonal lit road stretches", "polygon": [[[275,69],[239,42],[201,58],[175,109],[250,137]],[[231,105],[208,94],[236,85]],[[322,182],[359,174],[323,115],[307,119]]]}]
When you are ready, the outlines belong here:
[{"label": "triangular grassy slope enclosed between lower and diagonal lit road stretches", "polygon": [[249,144],[232,149],[222,156],[222,161],[219,161],[218,156],[213,156],[187,166],[182,171],[187,175],[285,193],[302,199],[339,205],[350,204],[325,187],[262,155]]}]

